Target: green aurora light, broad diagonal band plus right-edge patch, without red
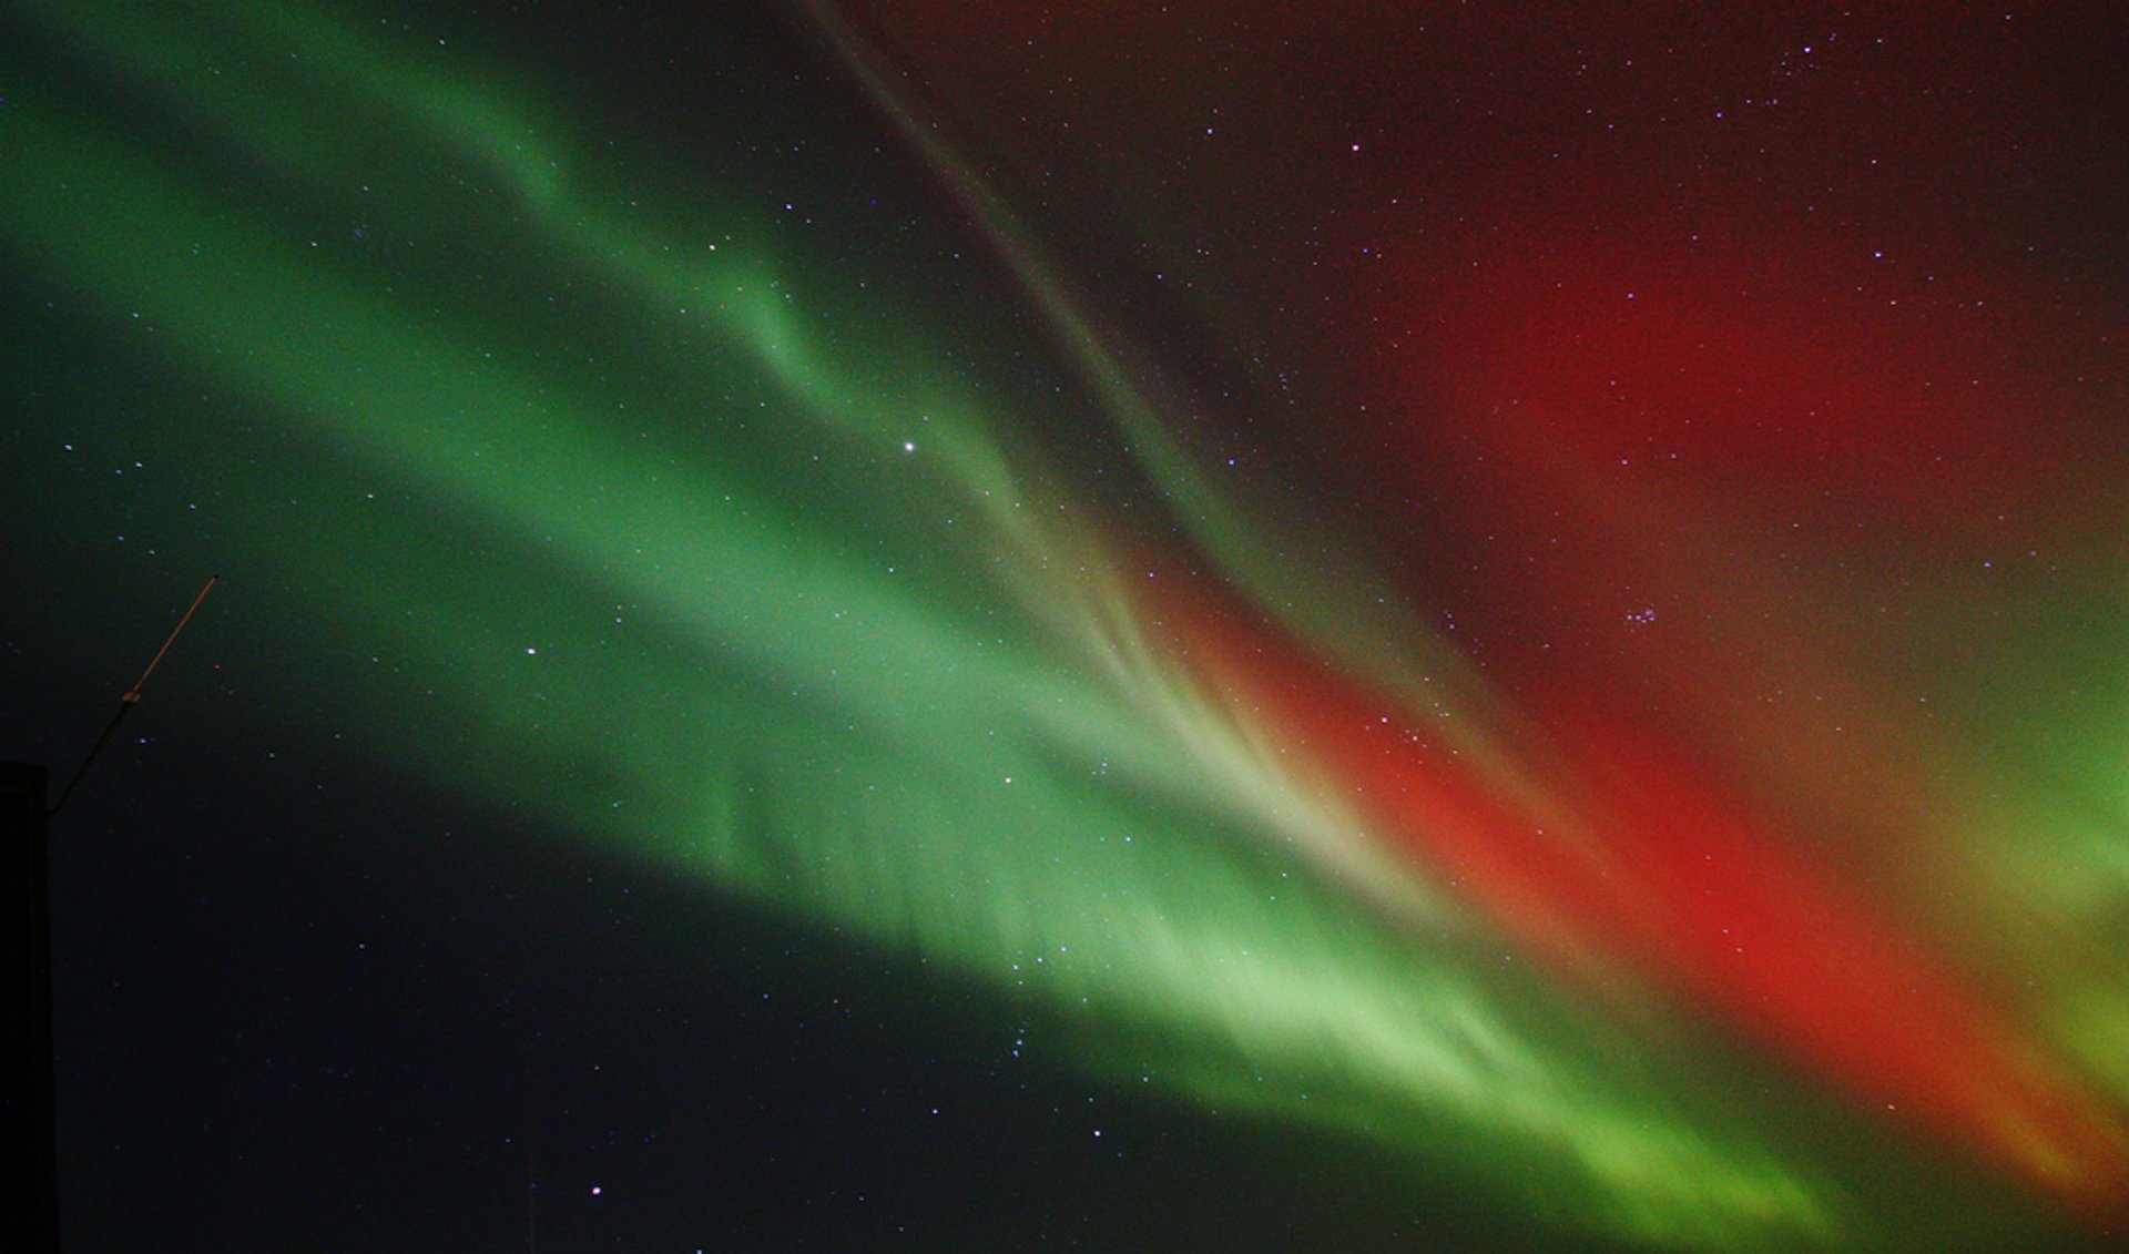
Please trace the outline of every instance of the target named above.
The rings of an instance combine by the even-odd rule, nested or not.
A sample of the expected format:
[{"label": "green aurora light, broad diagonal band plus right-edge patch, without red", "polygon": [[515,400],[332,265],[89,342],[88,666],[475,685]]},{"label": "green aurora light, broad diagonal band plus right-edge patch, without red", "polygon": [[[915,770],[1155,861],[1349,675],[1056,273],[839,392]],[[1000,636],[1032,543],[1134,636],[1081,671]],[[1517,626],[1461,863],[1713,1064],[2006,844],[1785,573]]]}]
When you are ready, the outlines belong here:
[{"label": "green aurora light, broad diagonal band plus right-edge patch, without red", "polygon": [[[1177,564],[1478,728],[1473,758],[1516,724],[1363,543],[1277,532],[1254,502],[1288,485],[1214,475],[832,13],[792,23],[849,70],[824,113],[871,106],[852,151],[901,136],[943,187],[898,192],[933,217],[881,251],[1001,270],[911,290],[758,172],[651,168],[530,57],[475,72],[375,17],[21,4],[0,30],[9,266],[155,379],[104,387],[177,415],[128,447],[194,466],[230,592],[407,669],[315,658],[298,622],[270,645],[379,769],[1043,1005],[1116,1086],[1320,1124],[1567,1233],[1901,1243],[1927,1222],[1901,1169],[1818,1145],[1959,1171],[1835,1103],[1776,1116],[1763,1062],[1633,992],[1503,962],[1201,692],[1137,617]],[[281,498],[309,526],[249,522]],[[1303,579],[1273,558],[1297,543],[1348,556]],[[2076,622],[2120,622],[2118,588],[2091,600]],[[2059,779],[1991,815],[2050,832],[1991,873],[2057,939],[2129,896],[2125,669],[2091,639]],[[2129,981],[2089,958],[2033,1013],[2120,1101]],[[1974,1207],[1940,1222],[2052,1222],[2008,1186]]]}]

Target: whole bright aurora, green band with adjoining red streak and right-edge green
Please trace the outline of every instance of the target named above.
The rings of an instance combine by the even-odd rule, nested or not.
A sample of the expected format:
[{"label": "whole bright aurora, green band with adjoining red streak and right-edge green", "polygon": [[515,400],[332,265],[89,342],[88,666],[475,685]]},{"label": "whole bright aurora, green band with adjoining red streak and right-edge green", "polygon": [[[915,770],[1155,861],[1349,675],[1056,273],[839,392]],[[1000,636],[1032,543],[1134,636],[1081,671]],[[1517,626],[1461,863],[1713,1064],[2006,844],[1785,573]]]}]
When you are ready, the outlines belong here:
[{"label": "whole bright aurora, green band with adjoining red streak and right-edge green", "polygon": [[[1363,522],[1218,488],[1182,400],[828,11],[969,215],[920,241],[988,241],[1018,287],[813,238],[758,172],[658,177],[537,66],[353,15],[6,21],[11,268],[207,390],[215,439],[287,439],[260,475],[319,526],[232,509],[228,566],[430,671],[413,722],[321,677],[390,769],[1041,1001],[1120,1084],[1333,1124],[1563,1228],[1905,1239],[1878,1169],[1820,1160],[1844,1137],[2025,1182],[1944,1224],[2118,1203],[2118,579],[2027,645],[2084,681],[2078,737],[1982,694],[1940,758],[2012,762],[1976,796],[1880,766],[2006,886],[2001,939],[1931,952],[1927,905],[1874,911],[1695,773],[1733,745],[1509,696]],[[1094,419],[1128,488],[1052,447]],[[1337,564],[1282,560],[1299,528]],[[1837,1094],[1803,1128],[1756,1092],[1786,1067]]]}]

